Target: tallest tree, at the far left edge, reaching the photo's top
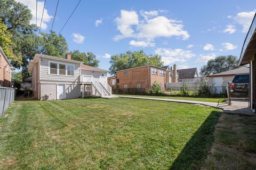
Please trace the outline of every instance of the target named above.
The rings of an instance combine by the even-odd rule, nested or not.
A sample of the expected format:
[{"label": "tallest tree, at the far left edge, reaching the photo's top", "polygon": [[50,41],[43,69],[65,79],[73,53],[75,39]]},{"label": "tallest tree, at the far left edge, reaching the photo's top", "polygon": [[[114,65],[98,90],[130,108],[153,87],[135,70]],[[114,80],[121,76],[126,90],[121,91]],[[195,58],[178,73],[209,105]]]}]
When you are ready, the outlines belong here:
[{"label": "tallest tree, at the far left edge, reaching the photo's top", "polygon": [[6,31],[12,35],[12,51],[14,57],[7,56],[14,67],[27,66],[27,60],[33,59],[37,47],[35,43],[34,31],[36,25],[30,24],[32,18],[28,7],[14,0],[0,0],[0,18]]}]

